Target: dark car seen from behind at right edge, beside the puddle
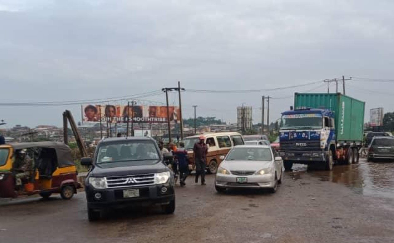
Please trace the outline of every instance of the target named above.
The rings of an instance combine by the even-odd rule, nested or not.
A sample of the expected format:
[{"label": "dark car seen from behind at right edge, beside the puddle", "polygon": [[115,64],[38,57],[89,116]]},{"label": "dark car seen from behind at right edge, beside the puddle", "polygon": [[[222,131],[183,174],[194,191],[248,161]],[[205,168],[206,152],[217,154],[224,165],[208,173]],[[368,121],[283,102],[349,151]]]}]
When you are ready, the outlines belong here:
[{"label": "dark car seen from behind at right edge, beside the puddle", "polygon": [[374,160],[394,161],[394,138],[374,137],[368,149],[368,161]]}]

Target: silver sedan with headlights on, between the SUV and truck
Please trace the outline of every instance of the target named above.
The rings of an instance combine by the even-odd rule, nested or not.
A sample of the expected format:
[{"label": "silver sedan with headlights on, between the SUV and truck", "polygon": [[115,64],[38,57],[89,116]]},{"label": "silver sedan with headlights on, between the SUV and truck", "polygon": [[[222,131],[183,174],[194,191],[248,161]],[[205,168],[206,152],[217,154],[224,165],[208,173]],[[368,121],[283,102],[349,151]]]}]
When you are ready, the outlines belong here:
[{"label": "silver sedan with headlights on, between the SUV and truck", "polygon": [[283,160],[266,145],[240,145],[232,148],[217,169],[215,188],[268,188],[275,193],[283,181]]}]

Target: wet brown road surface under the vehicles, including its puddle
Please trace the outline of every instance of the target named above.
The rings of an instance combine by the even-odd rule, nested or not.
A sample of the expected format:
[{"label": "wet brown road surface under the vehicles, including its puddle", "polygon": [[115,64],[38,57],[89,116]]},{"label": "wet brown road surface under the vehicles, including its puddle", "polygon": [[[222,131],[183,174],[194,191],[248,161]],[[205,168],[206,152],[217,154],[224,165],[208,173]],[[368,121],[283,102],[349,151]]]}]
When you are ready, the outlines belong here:
[{"label": "wet brown road surface under the vehicles, including its puddle", "polygon": [[0,243],[35,242],[394,242],[394,163],[296,165],[276,194],[207,185],[176,188],[174,215],[116,211],[87,221],[84,193],[64,201],[0,201]]}]

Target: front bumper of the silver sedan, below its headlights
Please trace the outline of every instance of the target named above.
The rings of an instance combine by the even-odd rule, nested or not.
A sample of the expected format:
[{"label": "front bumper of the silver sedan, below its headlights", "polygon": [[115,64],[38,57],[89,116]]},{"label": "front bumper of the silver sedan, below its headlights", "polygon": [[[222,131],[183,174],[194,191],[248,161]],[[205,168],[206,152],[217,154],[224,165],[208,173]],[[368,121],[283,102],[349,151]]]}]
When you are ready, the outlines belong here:
[{"label": "front bumper of the silver sedan, below its headlights", "polygon": [[[237,182],[239,177],[247,178],[247,182]],[[224,188],[271,188],[275,186],[275,176],[274,174],[250,176],[216,174],[215,185]]]}]

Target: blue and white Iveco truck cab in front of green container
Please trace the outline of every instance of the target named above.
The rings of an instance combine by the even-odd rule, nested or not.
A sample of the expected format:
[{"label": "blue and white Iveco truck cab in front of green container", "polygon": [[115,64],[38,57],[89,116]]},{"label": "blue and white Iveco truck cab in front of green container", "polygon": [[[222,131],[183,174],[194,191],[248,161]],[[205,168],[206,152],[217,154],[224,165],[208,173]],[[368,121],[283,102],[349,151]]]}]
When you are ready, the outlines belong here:
[{"label": "blue and white Iveco truck cab in front of green container", "polygon": [[317,163],[325,169],[332,169],[335,152],[332,149],[335,147],[333,111],[309,108],[285,111],[279,133],[279,153],[285,169],[291,169],[293,163]]}]

